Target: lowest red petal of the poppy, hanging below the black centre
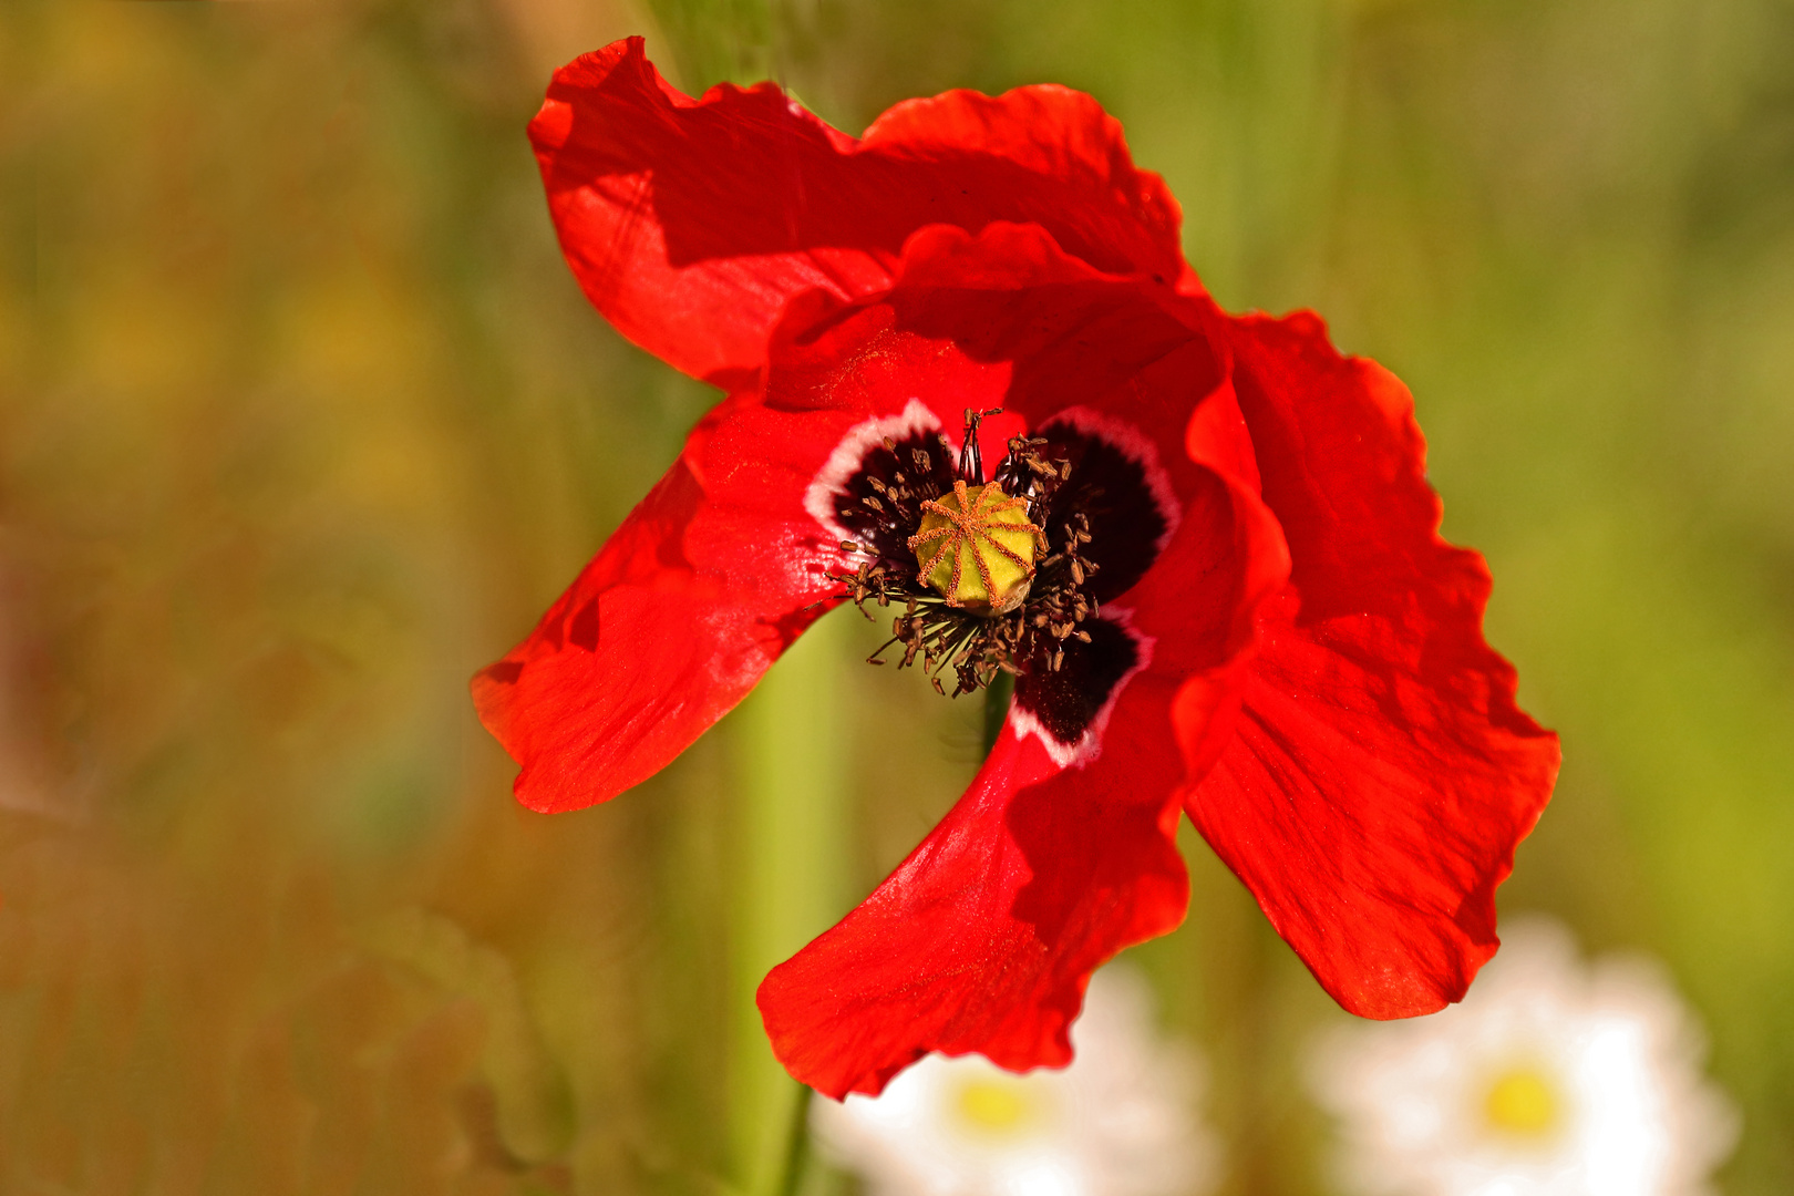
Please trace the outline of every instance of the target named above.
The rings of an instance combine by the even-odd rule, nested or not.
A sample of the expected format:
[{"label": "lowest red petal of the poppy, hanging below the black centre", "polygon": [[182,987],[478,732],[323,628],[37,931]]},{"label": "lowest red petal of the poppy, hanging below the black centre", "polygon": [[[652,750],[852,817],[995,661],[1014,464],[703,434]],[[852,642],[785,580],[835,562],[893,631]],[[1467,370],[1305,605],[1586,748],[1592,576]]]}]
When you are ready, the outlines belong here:
[{"label": "lowest red petal of the poppy, hanging below the black centre", "polygon": [[927,1051],[1067,1063],[1089,974],[1184,918],[1166,703],[1163,683],[1136,680],[1085,769],[1057,771],[1006,726],[922,846],[761,984],[786,1069],[840,1099]]}]

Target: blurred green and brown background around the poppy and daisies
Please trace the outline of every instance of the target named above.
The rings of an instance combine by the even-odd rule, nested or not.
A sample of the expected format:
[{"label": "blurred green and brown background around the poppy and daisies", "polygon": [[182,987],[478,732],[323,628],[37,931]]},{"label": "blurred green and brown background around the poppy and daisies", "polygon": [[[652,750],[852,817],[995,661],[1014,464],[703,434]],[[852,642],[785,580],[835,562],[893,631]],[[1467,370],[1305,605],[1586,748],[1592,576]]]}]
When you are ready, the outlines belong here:
[{"label": "blurred green and brown background around the poppy and daisies", "polygon": [[[1787,0],[11,0],[0,1192],[764,1185],[752,986],[980,712],[849,611],[637,793],[509,800],[466,676],[714,398],[585,305],[524,138],[630,32],[852,133],[1084,88],[1222,303],[1399,373],[1564,739],[1503,911],[1667,959],[1744,1110],[1724,1191],[1794,1191]],[[1299,1053],[1342,1015],[1188,855],[1132,954],[1224,1191],[1324,1192]]]}]

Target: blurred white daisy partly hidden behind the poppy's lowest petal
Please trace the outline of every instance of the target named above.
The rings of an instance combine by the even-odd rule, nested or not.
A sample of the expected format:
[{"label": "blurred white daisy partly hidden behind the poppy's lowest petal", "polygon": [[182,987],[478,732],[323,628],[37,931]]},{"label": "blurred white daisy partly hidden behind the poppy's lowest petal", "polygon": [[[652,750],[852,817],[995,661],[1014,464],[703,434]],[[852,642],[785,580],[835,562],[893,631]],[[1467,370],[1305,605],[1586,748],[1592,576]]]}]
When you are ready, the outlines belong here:
[{"label": "blurred white daisy partly hidden behind the poppy's lowest petal", "polygon": [[1091,977],[1076,1058],[1017,1076],[983,1056],[931,1054],[877,1097],[818,1099],[825,1158],[868,1196],[1195,1196],[1218,1149],[1197,1121],[1198,1063],[1152,1033],[1145,979]]}]

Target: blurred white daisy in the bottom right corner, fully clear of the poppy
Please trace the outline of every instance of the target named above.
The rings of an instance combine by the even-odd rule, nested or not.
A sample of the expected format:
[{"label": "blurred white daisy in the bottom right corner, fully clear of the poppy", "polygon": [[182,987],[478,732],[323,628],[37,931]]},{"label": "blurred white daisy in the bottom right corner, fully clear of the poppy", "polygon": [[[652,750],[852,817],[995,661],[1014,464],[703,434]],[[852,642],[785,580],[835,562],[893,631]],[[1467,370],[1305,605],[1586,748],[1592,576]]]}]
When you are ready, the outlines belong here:
[{"label": "blurred white daisy in the bottom right corner, fully clear of the poppy", "polygon": [[1527,922],[1462,1004],[1340,1027],[1311,1085],[1358,1196],[1704,1196],[1738,1117],[1703,1056],[1659,966]]}]

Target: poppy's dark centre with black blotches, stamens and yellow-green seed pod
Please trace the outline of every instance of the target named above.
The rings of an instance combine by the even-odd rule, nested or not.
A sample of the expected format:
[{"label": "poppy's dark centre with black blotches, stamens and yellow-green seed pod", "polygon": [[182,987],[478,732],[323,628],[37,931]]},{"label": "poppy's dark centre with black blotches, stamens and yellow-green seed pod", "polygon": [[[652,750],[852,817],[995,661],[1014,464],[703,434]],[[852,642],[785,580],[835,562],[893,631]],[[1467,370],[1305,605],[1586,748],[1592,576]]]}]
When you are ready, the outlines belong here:
[{"label": "poppy's dark centre with black blotches, stamens and yellow-green seed pod", "polygon": [[1170,540],[1170,486],[1150,446],[1084,409],[1010,438],[988,472],[978,429],[994,412],[967,411],[954,446],[917,409],[852,429],[811,484],[847,558],[825,576],[888,620],[872,663],[920,665],[951,696],[1014,676],[1017,708],[1069,751],[1141,663],[1103,608]]}]

